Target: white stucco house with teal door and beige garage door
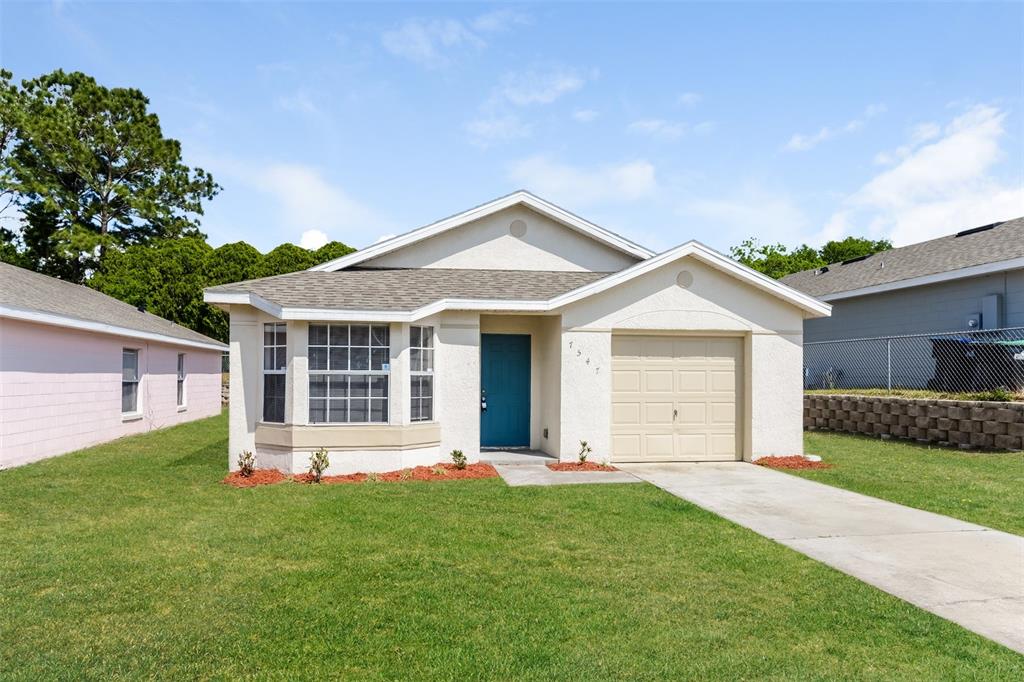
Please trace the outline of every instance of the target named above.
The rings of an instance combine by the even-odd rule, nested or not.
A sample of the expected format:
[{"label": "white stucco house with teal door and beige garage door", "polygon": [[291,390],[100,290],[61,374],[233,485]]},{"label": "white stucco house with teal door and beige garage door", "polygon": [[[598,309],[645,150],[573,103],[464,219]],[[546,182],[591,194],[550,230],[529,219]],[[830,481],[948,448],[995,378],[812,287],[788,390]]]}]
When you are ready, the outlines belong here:
[{"label": "white stucco house with teal door and beige garage door", "polygon": [[230,313],[228,459],[332,473],[803,452],[817,299],[697,243],[655,254],[516,191],[309,270],[207,289]]}]

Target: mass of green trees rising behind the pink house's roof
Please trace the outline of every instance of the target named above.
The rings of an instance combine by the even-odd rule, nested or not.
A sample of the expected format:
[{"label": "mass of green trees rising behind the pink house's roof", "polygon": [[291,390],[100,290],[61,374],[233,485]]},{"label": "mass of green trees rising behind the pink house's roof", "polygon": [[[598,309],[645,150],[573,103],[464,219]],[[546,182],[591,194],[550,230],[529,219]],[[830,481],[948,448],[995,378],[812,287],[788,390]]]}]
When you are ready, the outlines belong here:
[{"label": "mass of green trees rising behind the pink house's roof", "polygon": [[12,82],[0,70],[0,260],[98,291],[217,339],[226,315],[203,288],[283,274],[353,249],[238,242],[200,231],[220,191],[186,166],[150,100],[82,73]]}]

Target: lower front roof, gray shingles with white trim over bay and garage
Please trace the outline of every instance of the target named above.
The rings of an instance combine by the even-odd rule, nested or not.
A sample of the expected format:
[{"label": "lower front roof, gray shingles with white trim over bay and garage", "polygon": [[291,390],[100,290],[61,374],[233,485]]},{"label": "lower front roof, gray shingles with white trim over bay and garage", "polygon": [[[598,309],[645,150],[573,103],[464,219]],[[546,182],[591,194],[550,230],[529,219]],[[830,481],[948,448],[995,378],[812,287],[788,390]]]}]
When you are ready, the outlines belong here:
[{"label": "lower front roof, gray shingles with white trim over bay and garage", "polygon": [[281,274],[207,289],[209,303],[252,305],[281,319],[415,322],[445,309],[551,312],[693,256],[812,316],[831,307],[737,263],[698,242],[687,242],[624,270],[547,272],[442,268],[349,269]]}]

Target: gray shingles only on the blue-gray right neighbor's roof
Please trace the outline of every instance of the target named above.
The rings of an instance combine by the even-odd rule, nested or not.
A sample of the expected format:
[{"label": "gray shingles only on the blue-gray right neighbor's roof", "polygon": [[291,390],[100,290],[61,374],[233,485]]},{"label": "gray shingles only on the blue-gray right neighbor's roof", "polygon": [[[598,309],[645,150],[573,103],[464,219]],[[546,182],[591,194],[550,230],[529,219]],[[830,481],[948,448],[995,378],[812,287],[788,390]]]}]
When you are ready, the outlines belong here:
[{"label": "gray shingles only on the blue-gray right neighbor's roof", "polygon": [[782,278],[782,284],[811,296],[827,296],[1021,257],[1024,257],[1024,218],[1015,218],[963,237],[949,235],[883,251],[845,265],[834,263],[827,271],[795,272]]}]

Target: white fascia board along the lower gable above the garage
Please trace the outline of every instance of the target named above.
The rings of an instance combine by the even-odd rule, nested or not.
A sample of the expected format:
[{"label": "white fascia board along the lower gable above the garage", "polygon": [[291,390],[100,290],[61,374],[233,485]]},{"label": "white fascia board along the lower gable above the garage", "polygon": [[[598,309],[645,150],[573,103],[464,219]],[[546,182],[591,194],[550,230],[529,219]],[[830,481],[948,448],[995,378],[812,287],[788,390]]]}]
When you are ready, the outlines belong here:
[{"label": "white fascia board along the lower gable above the garage", "polygon": [[662,265],[666,265],[686,256],[693,256],[698,260],[708,263],[712,267],[732,274],[737,279],[757,287],[758,289],[804,309],[813,316],[826,316],[831,314],[831,306],[827,303],[819,301],[813,296],[808,296],[803,292],[799,292],[792,287],[787,287],[776,280],[772,280],[766,274],[762,274],[761,272],[751,269],[741,263],[737,263],[714,249],[694,241],[687,242],[686,244],[680,245],[674,249],[670,249],[654,256],[653,258],[641,261],[632,267],[628,267],[625,270],[620,270],[614,274],[610,274],[603,280],[598,280],[597,282],[585,285],[579,289],[573,289],[572,291],[562,294],[561,296],[556,296],[550,301],[551,307],[552,309],[562,307],[589,296],[593,296],[594,294],[598,294],[602,291],[607,291],[612,287],[616,287],[634,278],[638,278],[641,274],[650,272]]}]

